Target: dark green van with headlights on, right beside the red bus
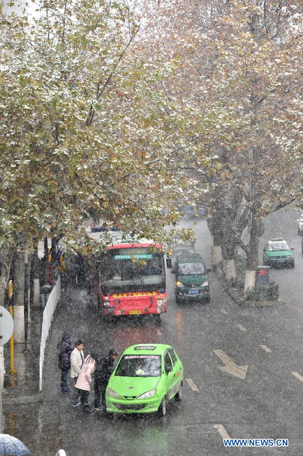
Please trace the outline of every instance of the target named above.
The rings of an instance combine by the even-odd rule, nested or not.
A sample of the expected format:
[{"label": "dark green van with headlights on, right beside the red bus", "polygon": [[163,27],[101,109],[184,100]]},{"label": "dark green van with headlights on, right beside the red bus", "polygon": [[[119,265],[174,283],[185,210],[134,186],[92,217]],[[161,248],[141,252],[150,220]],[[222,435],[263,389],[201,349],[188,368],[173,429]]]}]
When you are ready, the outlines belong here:
[{"label": "dark green van with headlights on, right beside the red bus", "polygon": [[176,302],[188,300],[210,301],[208,275],[202,256],[196,252],[177,255],[174,272],[176,276]]}]

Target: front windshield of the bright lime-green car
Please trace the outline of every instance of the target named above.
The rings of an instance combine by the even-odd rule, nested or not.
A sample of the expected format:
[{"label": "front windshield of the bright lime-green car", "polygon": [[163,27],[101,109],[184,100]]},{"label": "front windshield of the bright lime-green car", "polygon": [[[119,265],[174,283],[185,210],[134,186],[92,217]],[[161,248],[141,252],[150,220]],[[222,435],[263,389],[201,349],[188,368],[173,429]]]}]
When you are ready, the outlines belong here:
[{"label": "front windshield of the bright lime-green car", "polygon": [[115,375],[120,377],[160,377],[161,357],[159,355],[124,355]]}]

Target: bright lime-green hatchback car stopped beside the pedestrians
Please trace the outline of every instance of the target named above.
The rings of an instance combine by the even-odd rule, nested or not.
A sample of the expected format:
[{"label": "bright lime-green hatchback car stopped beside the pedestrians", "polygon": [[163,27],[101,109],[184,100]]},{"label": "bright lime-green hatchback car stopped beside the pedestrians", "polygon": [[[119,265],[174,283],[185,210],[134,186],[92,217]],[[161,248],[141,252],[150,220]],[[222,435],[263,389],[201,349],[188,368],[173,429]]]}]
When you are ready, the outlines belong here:
[{"label": "bright lime-green hatchback car stopped beside the pedestrians", "polygon": [[170,345],[140,344],[126,349],[112,372],[106,412],[166,414],[167,402],[181,400],[183,365]]}]

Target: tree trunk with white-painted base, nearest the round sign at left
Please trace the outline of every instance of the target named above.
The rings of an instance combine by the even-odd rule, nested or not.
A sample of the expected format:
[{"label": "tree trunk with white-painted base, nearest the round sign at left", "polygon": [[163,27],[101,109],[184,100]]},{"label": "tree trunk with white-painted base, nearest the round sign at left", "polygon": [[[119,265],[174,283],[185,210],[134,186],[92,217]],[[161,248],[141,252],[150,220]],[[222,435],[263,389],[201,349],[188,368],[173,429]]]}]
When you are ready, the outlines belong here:
[{"label": "tree trunk with white-painted base, nearest the round sign at left", "polygon": [[21,246],[15,255],[14,305],[14,337],[16,342],[24,343],[24,252]]}]

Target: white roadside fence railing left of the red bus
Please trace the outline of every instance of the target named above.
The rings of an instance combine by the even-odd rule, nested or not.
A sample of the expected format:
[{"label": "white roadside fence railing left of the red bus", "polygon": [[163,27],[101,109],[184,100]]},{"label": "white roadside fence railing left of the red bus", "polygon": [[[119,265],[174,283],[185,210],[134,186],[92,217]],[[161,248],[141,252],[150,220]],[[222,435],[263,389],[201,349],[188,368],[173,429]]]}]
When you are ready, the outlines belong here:
[{"label": "white roadside fence railing left of the red bus", "polygon": [[60,276],[56,282],[56,285],[51,291],[47,300],[45,309],[43,311],[43,323],[41,331],[41,343],[40,343],[40,363],[39,363],[39,390],[42,391],[42,380],[43,380],[43,364],[44,364],[44,352],[46,348],[46,341],[49,335],[49,330],[52,324],[53,315],[57,306],[57,303],[61,296],[61,280]]}]

